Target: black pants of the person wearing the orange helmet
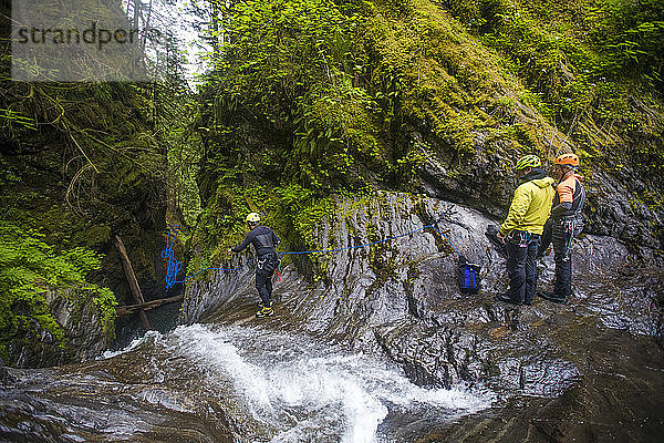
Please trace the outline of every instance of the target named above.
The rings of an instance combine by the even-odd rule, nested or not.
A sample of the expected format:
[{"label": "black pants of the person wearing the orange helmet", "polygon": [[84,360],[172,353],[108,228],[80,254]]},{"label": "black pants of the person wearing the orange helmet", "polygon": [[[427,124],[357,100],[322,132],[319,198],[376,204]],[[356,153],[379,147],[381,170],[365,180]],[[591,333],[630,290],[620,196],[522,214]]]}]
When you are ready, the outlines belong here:
[{"label": "black pants of the person wearing the orange helmet", "polygon": [[572,293],[572,240],[582,228],[581,222],[575,217],[549,218],[544,225],[540,250],[543,251],[553,244],[556,255],[553,292],[557,296],[569,297]]}]

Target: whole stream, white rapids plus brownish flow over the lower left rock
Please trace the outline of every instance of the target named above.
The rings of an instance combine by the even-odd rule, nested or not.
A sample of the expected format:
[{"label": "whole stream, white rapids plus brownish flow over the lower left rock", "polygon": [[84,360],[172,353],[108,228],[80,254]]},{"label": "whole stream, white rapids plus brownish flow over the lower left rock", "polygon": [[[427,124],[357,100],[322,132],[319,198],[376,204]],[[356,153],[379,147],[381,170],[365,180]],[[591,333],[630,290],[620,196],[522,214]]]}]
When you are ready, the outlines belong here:
[{"label": "whole stream, white rapids plus brownish flow over the lower left rock", "polygon": [[8,441],[406,442],[494,400],[251,326],[149,332],[94,362],[13,373],[20,382],[0,388]]}]

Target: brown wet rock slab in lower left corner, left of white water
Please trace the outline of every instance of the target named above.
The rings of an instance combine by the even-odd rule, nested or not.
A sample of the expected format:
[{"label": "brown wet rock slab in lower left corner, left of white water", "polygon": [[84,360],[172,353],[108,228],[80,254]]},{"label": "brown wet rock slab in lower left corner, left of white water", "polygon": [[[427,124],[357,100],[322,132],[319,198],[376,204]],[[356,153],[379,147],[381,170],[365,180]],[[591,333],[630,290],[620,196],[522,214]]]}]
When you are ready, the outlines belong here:
[{"label": "brown wet rock slab in lower left corner, left of white water", "polygon": [[149,340],[112,361],[10,369],[1,442],[232,442],[236,424],[199,374]]}]

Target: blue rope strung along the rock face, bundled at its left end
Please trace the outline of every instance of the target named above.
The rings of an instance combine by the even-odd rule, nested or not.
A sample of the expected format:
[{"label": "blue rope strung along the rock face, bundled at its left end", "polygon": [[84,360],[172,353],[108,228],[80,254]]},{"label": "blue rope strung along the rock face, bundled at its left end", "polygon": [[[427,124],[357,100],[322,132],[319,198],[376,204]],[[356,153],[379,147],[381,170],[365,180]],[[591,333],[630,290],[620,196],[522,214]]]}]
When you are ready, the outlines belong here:
[{"label": "blue rope strung along the rock face, bundled at its left end", "polygon": [[[179,272],[179,270],[183,267],[183,262],[178,261],[175,258],[175,251],[173,250],[173,243],[175,241],[175,236],[177,235],[177,230],[175,230],[175,234],[173,235],[173,238],[170,238],[170,233],[174,231],[174,228],[177,228],[178,225],[174,225],[173,227],[170,227],[168,229],[168,236],[166,237],[166,248],[162,251],[162,258],[164,258],[166,260],[166,289],[172,288],[175,284],[183,284],[185,282],[187,279],[204,272],[206,270],[218,270],[218,271],[236,271],[236,270],[240,270],[246,268],[247,266],[249,266],[249,264],[251,264],[251,261],[253,261],[253,259],[247,261],[243,266],[240,266],[239,268],[205,268],[199,270],[196,274],[191,274],[190,276],[187,276],[185,278],[183,278],[181,280],[177,279],[177,274]],[[365,248],[365,247],[370,247],[373,245],[377,245],[381,243],[385,243],[385,241],[391,241],[394,240],[396,238],[401,238],[401,237],[405,237],[408,235],[413,235],[415,233],[419,233],[421,230],[424,230],[426,228],[433,228],[435,229],[438,234],[440,234],[440,236],[443,238],[445,238],[447,240],[447,243],[449,244],[449,246],[452,246],[452,248],[454,249],[455,253],[457,253],[458,255],[460,255],[460,253],[458,251],[458,249],[454,246],[454,244],[452,243],[452,240],[449,239],[449,237],[447,237],[447,235],[445,235],[444,233],[442,233],[437,227],[436,224],[433,225],[426,225],[423,226],[418,229],[415,230],[411,230],[409,233],[405,233],[405,234],[400,234],[397,236],[392,236],[392,237],[387,237],[384,238],[382,240],[377,240],[377,241],[372,241],[372,243],[366,243],[366,244],[362,244],[362,245],[355,245],[355,246],[347,246],[344,248],[336,248],[336,249],[318,249],[318,250],[299,250],[299,251],[288,251],[288,253],[277,253],[277,255],[280,256],[287,256],[287,255],[305,255],[305,254],[331,254],[331,253],[340,253],[343,250],[350,250],[350,249],[359,249],[359,248]]]}]

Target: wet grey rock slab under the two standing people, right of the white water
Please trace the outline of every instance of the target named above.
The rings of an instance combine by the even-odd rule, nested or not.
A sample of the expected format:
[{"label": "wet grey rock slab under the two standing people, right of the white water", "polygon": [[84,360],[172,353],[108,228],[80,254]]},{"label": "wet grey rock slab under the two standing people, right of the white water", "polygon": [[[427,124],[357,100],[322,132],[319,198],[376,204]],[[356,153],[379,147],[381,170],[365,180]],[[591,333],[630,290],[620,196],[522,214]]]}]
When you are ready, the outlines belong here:
[{"label": "wet grey rock slab under the two standing people, right of the white water", "polygon": [[[587,441],[602,433],[647,441],[664,431],[657,393],[664,358],[656,344],[664,297],[656,254],[641,250],[639,260],[612,237],[582,235],[574,244],[570,302],[538,298],[515,307],[495,300],[507,288],[505,260],[484,231],[496,220],[461,205],[394,193],[340,198],[338,209],[321,224],[318,246],[347,249],[288,266],[276,285],[277,317],[266,324],[383,352],[424,387],[464,382],[498,394],[490,413],[446,426],[443,436],[419,429],[404,441]],[[422,229],[440,215],[438,230]],[[353,248],[388,237],[396,238]],[[446,238],[483,265],[480,293],[458,293],[458,258]],[[540,288],[552,285],[553,270],[550,254],[539,264]],[[238,321],[250,315],[241,307],[256,297],[250,277],[215,276],[205,290],[194,285],[186,311],[199,309],[198,295],[211,292],[218,296],[206,303],[222,308],[207,318]],[[199,310],[185,321],[205,316]]]}]

